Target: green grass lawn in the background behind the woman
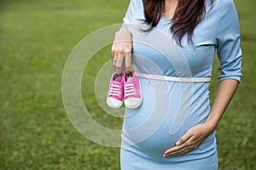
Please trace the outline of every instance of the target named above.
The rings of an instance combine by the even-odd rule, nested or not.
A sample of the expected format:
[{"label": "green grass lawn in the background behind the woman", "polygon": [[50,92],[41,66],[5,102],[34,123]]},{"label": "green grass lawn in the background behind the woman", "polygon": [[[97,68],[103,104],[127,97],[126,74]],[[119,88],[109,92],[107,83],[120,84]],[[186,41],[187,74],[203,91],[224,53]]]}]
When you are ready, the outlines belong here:
[{"label": "green grass lawn in the background behind the woman", "polygon": [[[69,122],[61,76],[75,45],[90,32],[120,23],[129,1],[0,0],[0,169],[119,169],[119,148],[85,139]],[[256,169],[255,1],[236,1],[241,20],[243,77],[219,123],[220,170]],[[103,114],[86,80],[108,61],[110,47],[90,60],[83,99],[97,122],[121,127]],[[213,79],[218,77],[218,61]],[[212,82],[211,98],[217,81]]]}]

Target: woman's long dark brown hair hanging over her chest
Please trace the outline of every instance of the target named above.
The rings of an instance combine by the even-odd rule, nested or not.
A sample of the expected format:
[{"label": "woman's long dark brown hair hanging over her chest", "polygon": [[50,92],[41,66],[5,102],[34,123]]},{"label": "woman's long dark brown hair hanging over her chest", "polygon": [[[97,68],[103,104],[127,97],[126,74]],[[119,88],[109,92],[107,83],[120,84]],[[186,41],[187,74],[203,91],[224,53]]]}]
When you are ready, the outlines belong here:
[{"label": "woman's long dark brown hair hanging over her chest", "polygon": [[[211,0],[213,3],[214,0]],[[160,21],[165,8],[165,0],[143,0],[144,22],[150,25],[146,31],[151,31]],[[179,0],[172,18],[170,31],[179,45],[182,37],[187,33],[188,41],[193,43],[192,34],[195,26],[206,14],[205,0]]]}]

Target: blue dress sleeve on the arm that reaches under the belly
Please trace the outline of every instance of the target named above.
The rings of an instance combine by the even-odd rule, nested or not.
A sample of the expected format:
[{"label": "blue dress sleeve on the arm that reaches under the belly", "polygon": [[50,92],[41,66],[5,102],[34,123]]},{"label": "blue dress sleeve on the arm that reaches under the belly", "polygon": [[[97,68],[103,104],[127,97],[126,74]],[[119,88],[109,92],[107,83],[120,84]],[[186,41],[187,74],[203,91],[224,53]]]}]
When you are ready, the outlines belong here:
[{"label": "blue dress sleeve on the arm that reaches under the belly", "polygon": [[217,54],[220,61],[218,81],[241,81],[239,21],[233,0],[220,1],[218,11]]}]

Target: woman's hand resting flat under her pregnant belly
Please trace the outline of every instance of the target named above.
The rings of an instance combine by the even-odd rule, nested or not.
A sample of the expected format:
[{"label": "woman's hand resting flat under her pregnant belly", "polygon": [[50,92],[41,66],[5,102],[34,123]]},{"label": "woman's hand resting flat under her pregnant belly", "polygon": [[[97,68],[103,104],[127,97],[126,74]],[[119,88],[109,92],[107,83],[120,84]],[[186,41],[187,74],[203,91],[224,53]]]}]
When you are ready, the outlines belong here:
[{"label": "woman's hand resting flat under her pregnant belly", "polygon": [[207,122],[195,125],[195,127],[190,128],[187,133],[177,140],[176,146],[166,150],[163,157],[183,156],[189,153],[197,148],[213,132],[214,128],[214,126]]}]

